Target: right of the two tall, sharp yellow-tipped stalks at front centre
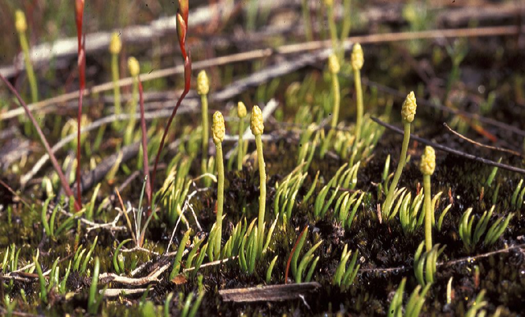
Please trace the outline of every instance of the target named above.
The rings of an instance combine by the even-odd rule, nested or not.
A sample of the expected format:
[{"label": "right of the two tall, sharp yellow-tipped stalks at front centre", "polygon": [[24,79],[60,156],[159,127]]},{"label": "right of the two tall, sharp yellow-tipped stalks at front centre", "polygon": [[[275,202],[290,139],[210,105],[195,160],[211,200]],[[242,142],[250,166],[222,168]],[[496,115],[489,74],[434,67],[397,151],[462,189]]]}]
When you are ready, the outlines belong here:
[{"label": "right of the two tall, sharp yellow-tipped stalks at front centre", "polygon": [[[259,178],[260,178],[260,194],[259,194],[259,221],[257,228],[259,233],[262,232],[264,227],[264,217],[266,212],[266,164],[264,162],[264,156],[262,155],[262,132],[264,132],[264,120],[262,119],[262,111],[257,106],[251,110],[250,118],[250,129],[251,133],[255,136],[255,144],[257,146],[257,161],[259,163]],[[261,235],[262,237],[262,235]],[[259,250],[262,251],[262,238],[259,241]]]}]

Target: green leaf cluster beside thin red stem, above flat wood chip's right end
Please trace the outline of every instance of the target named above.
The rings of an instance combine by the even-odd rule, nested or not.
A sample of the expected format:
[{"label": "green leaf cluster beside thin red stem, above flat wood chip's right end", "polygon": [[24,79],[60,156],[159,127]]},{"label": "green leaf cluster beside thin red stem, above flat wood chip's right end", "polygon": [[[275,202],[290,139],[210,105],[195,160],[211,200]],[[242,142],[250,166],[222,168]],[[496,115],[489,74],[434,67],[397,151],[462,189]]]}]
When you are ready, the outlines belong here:
[{"label": "green leaf cluster beside thin red stem, above flat wood chip's right end", "polygon": [[301,261],[299,262],[299,265],[297,264],[307,236],[308,227],[304,228],[301,236],[299,237],[299,240],[297,241],[295,250],[292,251],[293,254],[291,255],[290,268],[296,283],[301,283],[302,281],[310,282],[313,276],[313,272],[316,269],[317,262],[319,261],[319,256],[314,256],[313,252],[315,252],[317,248],[319,248],[319,246],[322,244],[322,239],[320,239],[306,253],[304,253],[304,255],[301,258]]}]

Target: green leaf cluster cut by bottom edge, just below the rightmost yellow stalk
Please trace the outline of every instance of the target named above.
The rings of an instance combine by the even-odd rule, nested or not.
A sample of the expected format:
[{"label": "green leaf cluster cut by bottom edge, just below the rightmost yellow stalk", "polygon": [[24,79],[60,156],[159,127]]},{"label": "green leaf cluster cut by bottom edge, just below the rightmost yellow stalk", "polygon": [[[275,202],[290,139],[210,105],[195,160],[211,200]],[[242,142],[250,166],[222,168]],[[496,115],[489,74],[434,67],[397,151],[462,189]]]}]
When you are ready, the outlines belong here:
[{"label": "green leaf cluster cut by bottom edge, just below the rightmost yellow stalk", "polygon": [[399,287],[397,288],[390,307],[388,308],[388,317],[417,317],[419,312],[423,308],[425,303],[425,296],[430,288],[430,284],[423,287],[421,285],[416,286],[412,291],[412,294],[408,298],[408,302],[405,306],[405,312],[403,313],[403,292],[405,291],[406,278],[403,278]]}]

